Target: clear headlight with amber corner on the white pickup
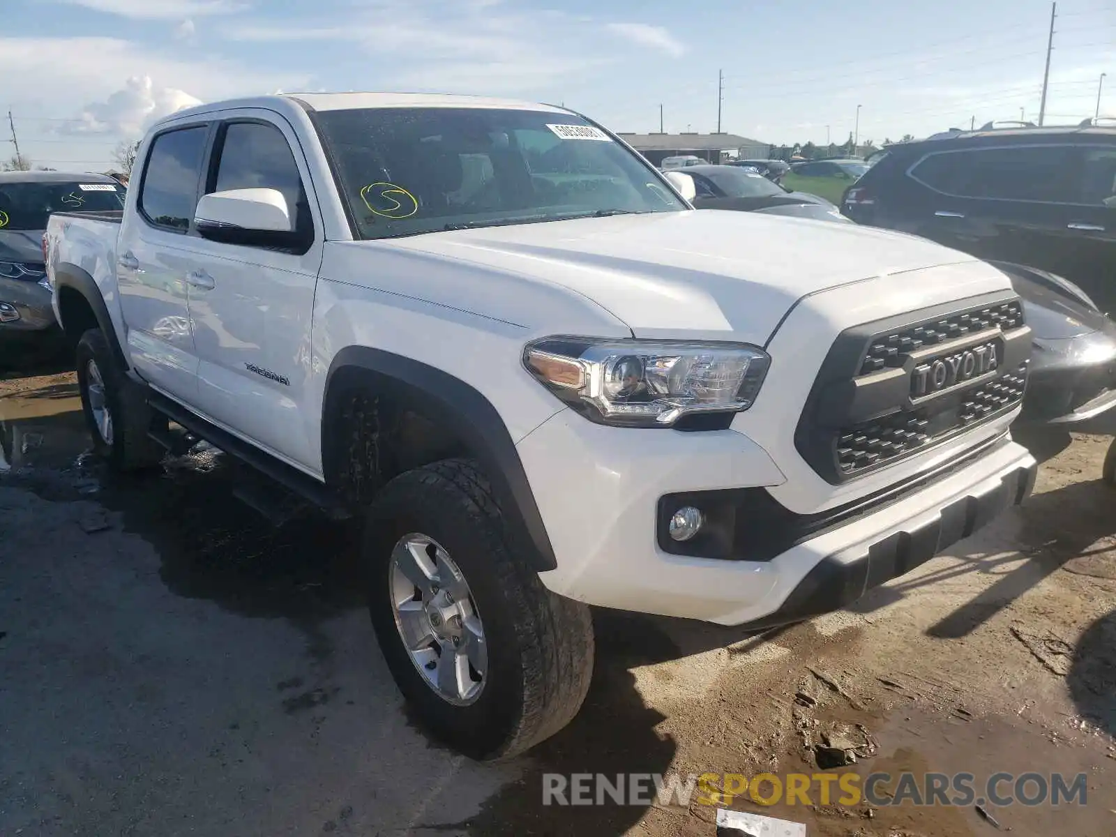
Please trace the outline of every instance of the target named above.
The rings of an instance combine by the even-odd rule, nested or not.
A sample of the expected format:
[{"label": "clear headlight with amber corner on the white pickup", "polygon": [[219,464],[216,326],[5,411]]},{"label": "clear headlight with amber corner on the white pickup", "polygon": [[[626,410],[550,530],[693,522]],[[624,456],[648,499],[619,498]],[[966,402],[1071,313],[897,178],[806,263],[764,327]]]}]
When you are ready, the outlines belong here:
[{"label": "clear headlight with amber corner on the white pickup", "polygon": [[523,350],[527,369],[587,419],[635,427],[748,410],[770,363],[740,343],[548,337]]}]

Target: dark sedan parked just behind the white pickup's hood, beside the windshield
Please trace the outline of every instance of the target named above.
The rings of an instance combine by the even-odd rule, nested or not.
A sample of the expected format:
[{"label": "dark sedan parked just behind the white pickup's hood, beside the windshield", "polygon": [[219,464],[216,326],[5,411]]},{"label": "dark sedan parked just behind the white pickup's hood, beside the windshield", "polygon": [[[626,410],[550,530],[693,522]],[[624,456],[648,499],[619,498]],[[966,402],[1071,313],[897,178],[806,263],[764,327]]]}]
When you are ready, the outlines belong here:
[{"label": "dark sedan parked just behind the white pickup's hood, beside the windshield", "polygon": [[698,209],[723,209],[763,212],[772,215],[846,221],[837,206],[806,192],[788,192],[762,174],[737,165],[694,165],[686,167],[694,181]]}]

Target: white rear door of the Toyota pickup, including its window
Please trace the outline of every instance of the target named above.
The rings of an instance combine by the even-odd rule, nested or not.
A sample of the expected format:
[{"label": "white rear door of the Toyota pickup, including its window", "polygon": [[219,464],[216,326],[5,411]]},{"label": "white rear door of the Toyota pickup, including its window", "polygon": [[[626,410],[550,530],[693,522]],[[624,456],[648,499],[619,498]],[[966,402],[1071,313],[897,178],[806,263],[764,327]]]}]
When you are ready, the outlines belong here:
[{"label": "white rear door of the Toyota pickup, including its window", "polygon": [[116,246],[128,356],[148,383],[187,402],[196,392],[198,354],[185,279],[209,131],[189,125],[152,140]]}]

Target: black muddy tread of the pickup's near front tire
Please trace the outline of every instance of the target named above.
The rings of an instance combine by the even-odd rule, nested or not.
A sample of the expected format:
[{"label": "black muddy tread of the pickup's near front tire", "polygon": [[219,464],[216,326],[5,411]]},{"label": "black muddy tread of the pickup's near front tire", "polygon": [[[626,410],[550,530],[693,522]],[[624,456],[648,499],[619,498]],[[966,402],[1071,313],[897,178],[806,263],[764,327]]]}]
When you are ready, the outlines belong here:
[{"label": "black muddy tread of the pickup's near front tire", "polygon": [[[538,573],[508,548],[500,507],[477,462],[450,459],[424,465],[395,478],[382,497],[396,491],[452,492],[475,520],[477,531],[489,541],[492,570],[512,609],[523,700],[520,716],[506,740],[484,758],[521,753],[566,727],[585,700],[594,663],[589,608],[548,590]],[[420,498],[413,499],[421,502]]]}]

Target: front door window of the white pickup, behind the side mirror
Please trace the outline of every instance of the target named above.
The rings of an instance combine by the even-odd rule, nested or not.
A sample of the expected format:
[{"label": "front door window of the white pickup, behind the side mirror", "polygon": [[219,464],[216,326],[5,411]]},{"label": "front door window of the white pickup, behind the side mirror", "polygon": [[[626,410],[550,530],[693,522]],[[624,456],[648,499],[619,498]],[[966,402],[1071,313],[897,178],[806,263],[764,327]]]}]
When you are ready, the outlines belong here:
[{"label": "front door window of the white pickup, behind the side mirror", "polygon": [[225,128],[217,176],[205,191],[230,189],[276,189],[287,199],[295,229],[310,223],[295,155],[287,137],[272,125],[234,122]]}]

